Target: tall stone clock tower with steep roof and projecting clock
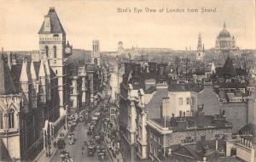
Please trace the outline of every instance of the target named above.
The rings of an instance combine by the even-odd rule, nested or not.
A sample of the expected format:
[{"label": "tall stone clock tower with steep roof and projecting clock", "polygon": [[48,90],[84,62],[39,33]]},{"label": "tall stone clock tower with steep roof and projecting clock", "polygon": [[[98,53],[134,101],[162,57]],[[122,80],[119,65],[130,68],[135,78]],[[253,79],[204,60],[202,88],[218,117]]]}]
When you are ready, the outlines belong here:
[{"label": "tall stone clock tower with steep roof and projecting clock", "polygon": [[66,44],[66,33],[55,8],[49,8],[38,34],[39,52],[49,60],[49,66],[58,77],[60,115],[64,115],[67,108],[67,57],[72,54],[72,47],[68,42]]}]

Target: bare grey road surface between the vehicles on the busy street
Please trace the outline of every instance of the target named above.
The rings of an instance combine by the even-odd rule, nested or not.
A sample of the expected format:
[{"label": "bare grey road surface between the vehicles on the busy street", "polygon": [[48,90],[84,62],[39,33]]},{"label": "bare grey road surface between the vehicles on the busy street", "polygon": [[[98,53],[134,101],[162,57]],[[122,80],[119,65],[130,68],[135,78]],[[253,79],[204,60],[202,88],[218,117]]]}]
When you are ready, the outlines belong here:
[{"label": "bare grey road surface between the vehicles on the busy street", "polygon": [[[92,110],[90,112],[90,115],[94,115],[96,111],[100,109],[99,105],[96,106],[96,109]],[[97,126],[96,126],[96,132],[102,130],[102,118],[100,118]],[[84,122],[79,122],[78,125],[75,127],[74,131],[74,137],[75,137],[75,143],[73,145],[69,145],[67,142],[67,138],[65,140],[66,147],[65,150],[69,152],[70,157],[74,159],[74,161],[100,161],[97,157],[97,154],[95,153],[94,156],[87,156],[87,147],[84,146],[84,141],[89,142],[90,137],[87,136],[88,126],[87,124],[84,124]],[[101,145],[105,147],[104,142],[101,142]],[[82,148],[84,146],[84,153],[82,154]],[[106,156],[103,161],[111,161],[108,150],[106,150]],[[60,161],[61,162],[61,149],[58,149],[55,156],[51,159],[51,161]]]}]

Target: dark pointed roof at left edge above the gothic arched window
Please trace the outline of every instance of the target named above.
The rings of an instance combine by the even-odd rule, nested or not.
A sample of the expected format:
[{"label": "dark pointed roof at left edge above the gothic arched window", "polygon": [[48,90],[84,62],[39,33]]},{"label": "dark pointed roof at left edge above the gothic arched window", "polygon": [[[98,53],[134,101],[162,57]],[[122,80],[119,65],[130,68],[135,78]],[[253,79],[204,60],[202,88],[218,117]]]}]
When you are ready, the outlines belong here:
[{"label": "dark pointed roof at left edge above the gothic arched window", "polygon": [[0,95],[16,94],[17,91],[3,55],[0,56],[0,76]]}]

